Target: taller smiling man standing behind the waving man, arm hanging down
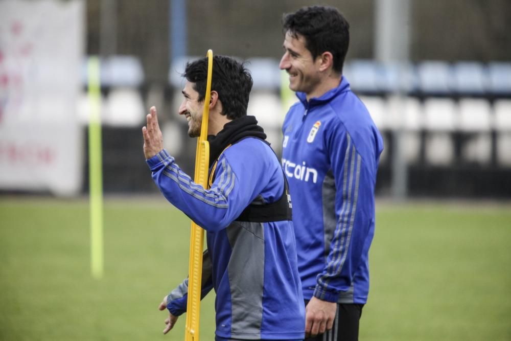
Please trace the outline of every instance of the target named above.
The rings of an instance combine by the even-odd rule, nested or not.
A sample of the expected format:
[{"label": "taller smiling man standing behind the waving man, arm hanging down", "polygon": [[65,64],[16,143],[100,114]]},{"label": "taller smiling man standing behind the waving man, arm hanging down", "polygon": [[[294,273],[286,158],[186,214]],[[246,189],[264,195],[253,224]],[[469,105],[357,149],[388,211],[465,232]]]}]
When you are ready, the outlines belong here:
[{"label": "taller smiling man standing behind the waving man, arm hanging down", "polygon": [[309,340],[357,340],[369,291],[383,142],[342,76],[349,25],[332,7],[284,15],[280,67],[299,101],[283,124]]}]

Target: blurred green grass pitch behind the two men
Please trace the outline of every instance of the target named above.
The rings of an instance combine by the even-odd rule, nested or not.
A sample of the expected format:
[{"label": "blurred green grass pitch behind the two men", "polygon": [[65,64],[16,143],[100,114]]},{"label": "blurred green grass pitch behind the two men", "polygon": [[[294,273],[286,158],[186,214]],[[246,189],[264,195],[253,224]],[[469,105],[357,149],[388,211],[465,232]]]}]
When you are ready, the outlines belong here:
[{"label": "blurred green grass pitch behind the two men", "polygon": [[[107,198],[100,281],[88,222],[85,200],[0,197],[0,340],[182,340],[185,316],[163,335],[157,307],[187,275],[189,219]],[[511,340],[511,204],[379,202],[370,258],[360,340]]]}]

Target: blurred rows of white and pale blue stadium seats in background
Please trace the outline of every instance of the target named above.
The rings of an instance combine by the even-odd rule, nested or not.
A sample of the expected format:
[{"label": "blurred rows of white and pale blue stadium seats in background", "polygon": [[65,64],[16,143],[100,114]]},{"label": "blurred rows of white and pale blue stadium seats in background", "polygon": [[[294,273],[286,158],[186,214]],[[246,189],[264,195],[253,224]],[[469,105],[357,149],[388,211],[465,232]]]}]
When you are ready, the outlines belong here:
[{"label": "blurred rows of white and pale blue stadium seats in background", "polygon": [[[172,110],[181,101],[180,74],[184,65],[196,58],[178,59],[169,69],[165,100]],[[265,127],[268,140],[280,153],[284,113],[296,99],[292,96],[286,103],[282,102],[283,73],[278,70],[278,60],[253,58],[246,65],[254,79],[248,114],[258,118]],[[136,58],[107,58],[101,70],[104,132],[111,134],[105,139],[104,148],[109,150],[107,154],[113,154],[112,148],[123,148],[113,143],[114,137],[140,140],[140,126],[146,108],[152,103],[145,103],[147,81]],[[385,192],[383,187],[389,186],[392,141],[397,131],[402,133],[402,151],[410,170],[412,195],[448,194],[458,187],[462,188],[459,193],[480,195],[481,186],[472,186],[467,179],[475,183],[485,179],[483,195],[497,193],[498,196],[498,193],[504,195],[511,191],[511,186],[505,185],[509,181],[504,175],[511,167],[511,62],[425,60],[414,64],[383,64],[367,59],[349,60],[343,74],[383,134],[385,150],[381,156],[380,191]],[[86,82],[84,73],[84,85]],[[85,90],[84,87],[77,102],[80,122],[84,125],[88,120]],[[185,123],[177,115],[168,115],[162,121],[166,147],[181,157],[185,161],[183,166],[187,167],[186,162],[192,160],[188,156],[195,149],[185,144]],[[140,160],[131,156],[133,153],[121,151],[120,155],[126,156],[124,162],[134,164]],[[105,171],[108,167],[107,161]],[[464,179],[463,183],[461,179]],[[452,184],[448,188],[432,186],[431,181],[450,181]],[[500,185],[492,187],[492,181]],[[112,183],[106,185],[105,190],[108,186],[122,191],[136,185]],[[146,184],[140,188],[152,187]]]}]

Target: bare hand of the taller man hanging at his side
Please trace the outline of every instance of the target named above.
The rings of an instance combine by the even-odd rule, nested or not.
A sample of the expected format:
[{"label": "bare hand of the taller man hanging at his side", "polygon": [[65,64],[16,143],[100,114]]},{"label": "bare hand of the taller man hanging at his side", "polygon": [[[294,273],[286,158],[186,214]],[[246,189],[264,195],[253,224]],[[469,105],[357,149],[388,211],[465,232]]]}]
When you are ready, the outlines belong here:
[{"label": "bare hand of the taller man hanging at his side", "polygon": [[315,337],[332,329],[336,310],[337,303],[312,297],[305,307],[305,336]]}]

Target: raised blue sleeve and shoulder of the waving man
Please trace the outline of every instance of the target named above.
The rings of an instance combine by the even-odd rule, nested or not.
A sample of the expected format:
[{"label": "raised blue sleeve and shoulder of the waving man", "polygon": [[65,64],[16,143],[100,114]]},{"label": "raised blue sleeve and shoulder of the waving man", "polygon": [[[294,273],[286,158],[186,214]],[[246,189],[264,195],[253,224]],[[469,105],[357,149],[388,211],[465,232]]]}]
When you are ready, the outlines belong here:
[{"label": "raised blue sleeve and shoulder of the waving man", "polygon": [[[274,155],[268,157],[269,147],[265,148],[263,142],[255,139],[245,139],[227,148],[218,160],[213,184],[207,190],[194,183],[165,149],[147,160],[147,164],[167,200],[204,230],[215,232],[239,217],[264,192],[280,167]],[[276,162],[274,169],[269,160]]]}]

